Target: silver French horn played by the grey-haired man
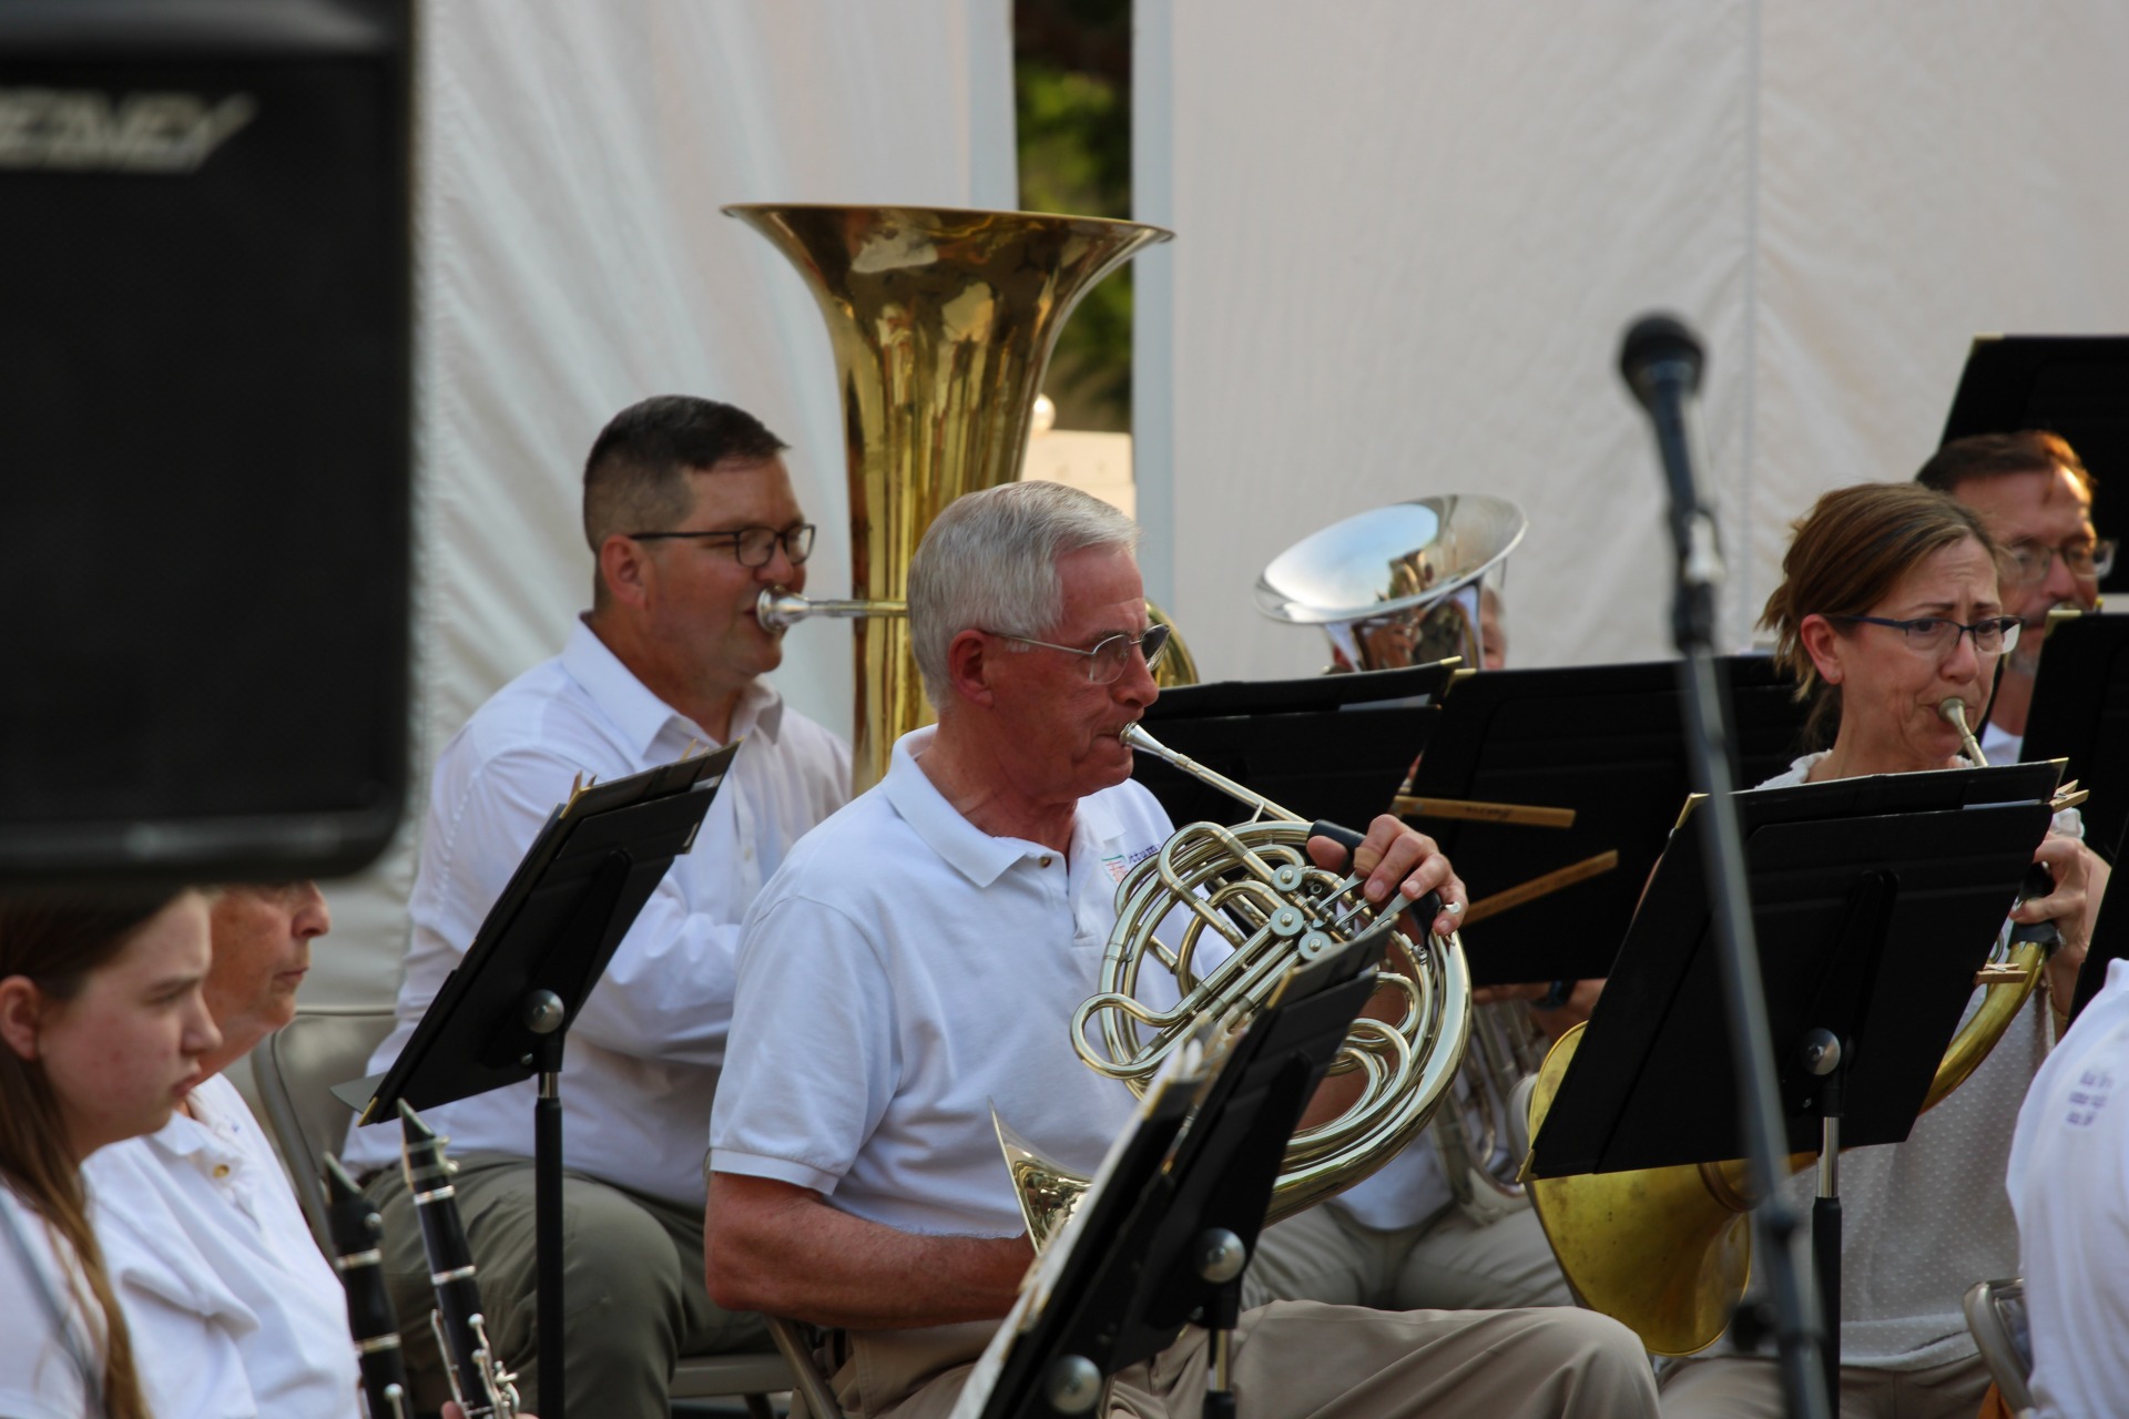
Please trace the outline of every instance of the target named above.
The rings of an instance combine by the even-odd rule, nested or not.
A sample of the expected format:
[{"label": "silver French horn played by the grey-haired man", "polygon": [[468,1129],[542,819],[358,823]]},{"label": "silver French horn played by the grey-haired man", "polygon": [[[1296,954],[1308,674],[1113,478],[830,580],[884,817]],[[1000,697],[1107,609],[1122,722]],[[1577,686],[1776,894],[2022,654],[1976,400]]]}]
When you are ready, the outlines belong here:
[{"label": "silver French horn played by the grey-haired man", "polygon": [[[1463,942],[1397,930],[1407,906],[1392,894],[1369,904],[1365,877],[1318,868],[1307,855],[1309,823],[1252,789],[1175,753],[1139,725],[1122,734],[1141,753],[1250,804],[1237,828],[1188,823],[1116,889],[1116,930],[1101,962],[1101,989],[1073,1015],[1073,1049],[1088,1068],[1143,1096],[1184,1038],[1245,1023],[1286,970],[1373,934],[1388,934],[1377,972],[1403,998],[1397,1021],[1360,1017],[1333,1074],[1360,1074],[1360,1098],[1339,1117],[1294,1134],[1273,1187],[1267,1223],[1352,1187],[1397,1155],[1433,1115],[1456,1076],[1471,1025],[1471,976]],[[1173,940],[1156,930],[1182,921]],[[1177,1004],[1139,998],[1148,970],[1175,979]],[[1096,1034],[1099,1045],[1088,1036]],[[1077,1206],[1086,1181],[1043,1159],[999,1121],[1028,1236],[1041,1247]]]}]

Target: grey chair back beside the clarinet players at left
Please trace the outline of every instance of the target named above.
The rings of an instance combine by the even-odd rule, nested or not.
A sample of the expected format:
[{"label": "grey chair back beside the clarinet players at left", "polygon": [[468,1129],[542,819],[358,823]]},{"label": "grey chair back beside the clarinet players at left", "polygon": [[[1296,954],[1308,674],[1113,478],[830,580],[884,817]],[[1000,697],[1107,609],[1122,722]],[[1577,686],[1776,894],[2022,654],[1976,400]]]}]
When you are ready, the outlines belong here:
[{"label": "grey chair back beside the clarinet players at left", "polygon": [[311,1234],[324,1253],[332,1255],[332,1234],[326,1228],[326,1189],[319,1183],[319,1157],[339,1153],[347,1125],[356,1117],[332,1085],[362,1079],[370,1051],[392,1034],[390,1004],[304,1006],[285,1028],[268,1034],[251,1051],[251,1074],[266,1125],[273,1130],[281,1162],[296,1183],[296,1202],[311,1223]]}]

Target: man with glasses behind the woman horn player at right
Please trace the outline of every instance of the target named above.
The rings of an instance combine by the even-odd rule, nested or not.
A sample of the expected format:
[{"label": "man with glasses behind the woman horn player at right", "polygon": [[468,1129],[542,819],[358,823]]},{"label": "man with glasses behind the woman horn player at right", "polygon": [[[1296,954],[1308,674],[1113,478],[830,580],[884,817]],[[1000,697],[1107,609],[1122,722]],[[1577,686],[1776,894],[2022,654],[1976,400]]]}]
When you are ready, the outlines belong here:
[{"label": "man with glasses behind the woman horn player at right", "polygon": [[2033,708],[2048,613],[2097,606],[2099,579],[2114,566],[2114,540],[2093,532],[2093,474],[2059,434],[2023,430],[1954,438],[1914,481],[1976,508],[2012,555],[2003,568],[2003,608],[2025,632],[2003,662],[1982,730],[1988,762],[2012,764]]}]

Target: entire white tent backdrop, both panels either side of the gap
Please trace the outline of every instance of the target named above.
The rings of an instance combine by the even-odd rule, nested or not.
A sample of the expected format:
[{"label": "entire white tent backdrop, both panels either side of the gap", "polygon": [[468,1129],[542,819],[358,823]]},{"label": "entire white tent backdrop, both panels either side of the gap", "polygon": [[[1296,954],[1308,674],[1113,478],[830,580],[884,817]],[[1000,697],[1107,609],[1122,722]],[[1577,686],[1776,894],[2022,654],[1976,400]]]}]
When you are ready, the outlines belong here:
[{"label": "entire white tent backdrop, both panels either side of the gap", "polygon": [[[1307,672],[1248,608],[1337,517],[1497,491],[1518,664],[1667,653],[1648,306],[1710,345],[1742,640],[1814,494],[1905,477],[1967,338],[2129,328],[2129,9],[1833,0],[1137,0],[1137,470],[1154,596],[1218,677]],[[413,802],[328,885],[317,1000],[379,998],[428,768],[588,602],[579,464],[647,394],[758,413],[847,587],[832,362],[726,202],[1013,204],[1005,0],[422,9]],[[779,683],[837,728],[849,640]]]}]

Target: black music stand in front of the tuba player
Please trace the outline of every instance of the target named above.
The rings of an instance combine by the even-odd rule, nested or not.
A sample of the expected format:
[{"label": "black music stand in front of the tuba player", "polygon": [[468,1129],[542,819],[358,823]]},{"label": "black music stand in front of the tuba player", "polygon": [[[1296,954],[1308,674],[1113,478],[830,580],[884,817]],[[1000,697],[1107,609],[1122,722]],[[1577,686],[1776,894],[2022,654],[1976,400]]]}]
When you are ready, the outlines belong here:
[{"label": "black music stand in front of the tuba player", "polygon": [[541,830],[422,1023],[370,1079],[334,1087],[356,1123],[539,1079],[532,1104],[541,1413],[562,1413],[562,1045],[583,998],[694,847],[739,742],[579,789]]}]

